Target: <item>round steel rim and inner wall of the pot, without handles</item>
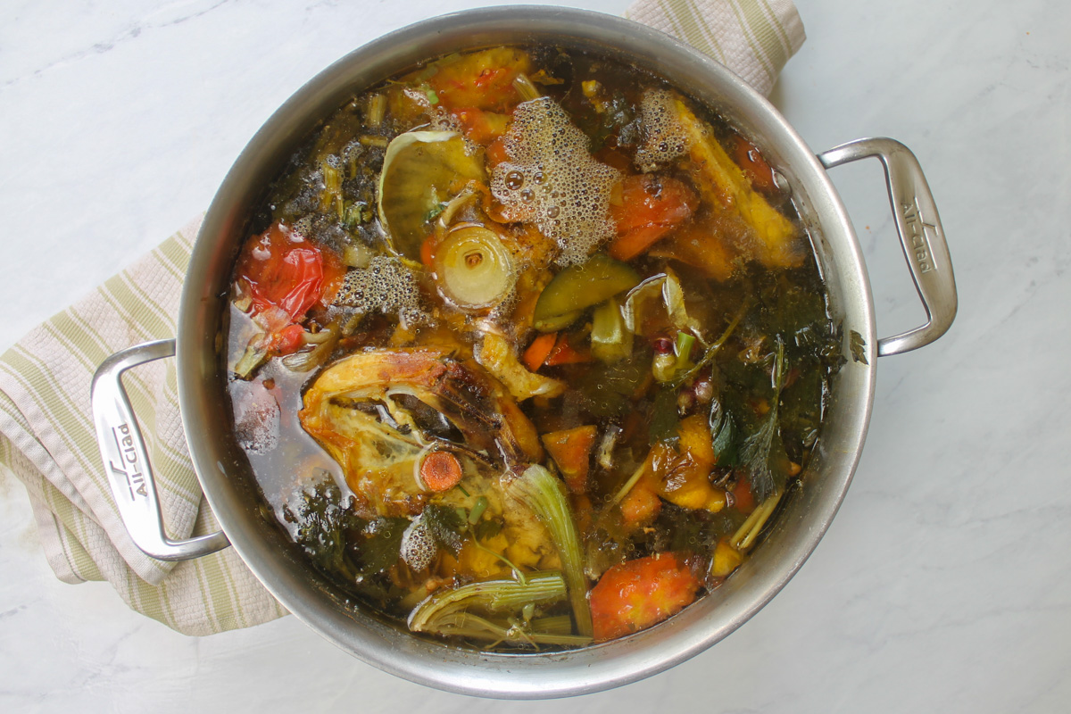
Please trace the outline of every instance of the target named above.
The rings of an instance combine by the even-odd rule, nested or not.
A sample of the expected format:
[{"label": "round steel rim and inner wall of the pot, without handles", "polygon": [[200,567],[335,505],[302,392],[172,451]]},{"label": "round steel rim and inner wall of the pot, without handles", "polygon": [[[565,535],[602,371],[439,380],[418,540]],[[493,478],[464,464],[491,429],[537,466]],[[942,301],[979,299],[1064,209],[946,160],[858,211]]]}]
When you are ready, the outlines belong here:
[{"label": "round steel rim and inner wall of the pot, without handles", "polygon": [[[241,240],[236,236],[246,218],[245,207],[254,200],[251,196],[256,186],[265,183],[250,177],[265,176],[270,154],[278,154],[283,146],[292,150],[296,141],[291,137],[300,140],[328,111],[340,106],[341,97],[352,93],[357,83],[371,82],[371,77],[368,81],[362,77],[375,74],[375,78],[382,79],[402,69],[377,74],[378,70],[371,71],[369,66],[397,63],[405,57],[431,59],[444,54],[434,51],[435,47],[499,44],[479,40],[499,33],[515,36],[518,26],[523,27],[523,36],[553,32],[607,51],[619,48],[638,57],[657,74],[703,81],[703,86],[688,85],[688,93],[719,111],[743,111],[749,131],[775,138],[763,146],[776,147],[780,163],[790,167],[793,178],[804,188],[808,215],[813,221],[805,219],[818,232],[820,245],[816,244],[816,249],[827,252],[824,276],[827,282],[836,282],[840,292],[848,295],[839,307],[846,324],[863,336],[869,358],[866,365],[845,365],[845,375],[838,376],[839,382],[847,380],[836,388],[841,397],[848,391],[851,395],[838,405],[844,414],[843,435],[836,449],[831,450],[838,453],[823,456],[833,465],[833,473],[824,475],[821,486],[812,489],[820,491],[820,499],[808,514],[810,522],[788,526],[804,537],[790,543],[785,542],[787,536],[780,541],[770,537],[763,544],[774,552],[770,558],[778,558],[776,567],[767,564],[764,569],[749,571],[744,566],[715,591],[720,596],[707,595],[661,625],[620,640],[553,654],[459,650],[403,636],[366,613],[338,607],[337,601],[311,582],[307,572],[295,568],[288,557],[268,542],[263,529],[253,523],[261,516],[247,501],[248,488],[235,485],[241,481],[241,459],[211,436],[218,434],[225,423],[217,391],[223,383],[218,351],[226,344],[225,333],[221,341],[226,289],[220,289],[226,283],[221,283],[220,276],[229,276],[238,249],[236,241]],[[465,42],[470,39],[477,42]],[[331,97],[338,101],[331,104]],[[714,60],[647,26],[590,11],[513,5],[431,18],[374,40],[311,79],[269,118],[227,173],[195,243],[180,304],[178,386],[191,457],[208,502],[242,560],[287,609],[353,656],[404,679],[457,694],[544,699],[608,689],[673,667],[737,629],[787,583],[828,529],[858,464],[873,402],[875,344],[870,286],[847,213],[814,153],[764,96]],[[229,404],[224,411],[228,410]],[[825,429],[824,424],[824,434]]]}]

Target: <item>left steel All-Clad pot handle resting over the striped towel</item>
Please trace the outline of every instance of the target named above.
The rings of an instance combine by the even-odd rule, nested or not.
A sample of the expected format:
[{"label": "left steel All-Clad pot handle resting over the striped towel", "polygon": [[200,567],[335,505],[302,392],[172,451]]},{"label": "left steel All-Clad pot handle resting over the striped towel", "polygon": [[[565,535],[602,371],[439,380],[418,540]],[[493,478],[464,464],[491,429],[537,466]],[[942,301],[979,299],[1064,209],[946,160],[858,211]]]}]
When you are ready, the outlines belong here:
[{"label": "left steel All-Clad pot handle resting over the striped towel", "polygon": [[131,540],[147,556],[175,561],[213,553],[230,542],[223,531],[186,541],[172,541],[164,531],[149,455],[123,388],[122,374],[139,364],[169,356],[175,356],[174,339],[144,343],[116,352],[93,375],[92,405],[101,460]]}]

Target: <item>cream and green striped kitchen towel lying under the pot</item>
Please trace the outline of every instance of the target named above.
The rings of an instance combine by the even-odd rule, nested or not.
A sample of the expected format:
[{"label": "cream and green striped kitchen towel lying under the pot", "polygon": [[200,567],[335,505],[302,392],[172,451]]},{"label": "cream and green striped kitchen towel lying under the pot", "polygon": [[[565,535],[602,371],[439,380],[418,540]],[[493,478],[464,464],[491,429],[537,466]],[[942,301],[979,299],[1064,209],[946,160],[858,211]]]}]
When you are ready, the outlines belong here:
[{"label": "cream and green striped kitchen towel lying under the pot", "polygon": [[[639,0],[628,16],[693,44],[764,93],[803,42],[788,0]],[[101,464],[90,383],[114,352],[175,336],[199,227],[200,218],[0,356],[0,468],[26,485],[57,577],[107,580],[132,608],[188,635],[247,627],[286,610],[231,548],[182,563],[138,550]],[[124,382],[147,439],[169,535],[218,530],[186,452],[175,361],[137,367]]]}]

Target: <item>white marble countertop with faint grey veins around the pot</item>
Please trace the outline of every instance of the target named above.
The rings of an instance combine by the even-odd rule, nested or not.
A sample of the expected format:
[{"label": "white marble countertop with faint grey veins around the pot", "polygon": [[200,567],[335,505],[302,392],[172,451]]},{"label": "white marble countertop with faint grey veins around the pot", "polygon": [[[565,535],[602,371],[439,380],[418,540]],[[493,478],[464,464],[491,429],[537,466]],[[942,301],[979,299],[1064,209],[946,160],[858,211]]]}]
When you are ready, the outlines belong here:
[{"label": "white marble countertop with faint grey veins around the pot", "polygon": [[[1071,4],[797,0],[772,100],[820,151],[911,147],[960,314],[883,359],[866,447],[799,575],[677,668],[584,712],[1055,712],[1071,701]],[[473,0],[10,0],[0,349],[202,211],[259,124],[388,30]],[[579,0],[612,13],[627,0]],[[877,163],[833,171],[888,335],[923,318]],[[55,579],[0,481],[0,710],[555,711],[442,694],[284,618],[196,639]]]}]

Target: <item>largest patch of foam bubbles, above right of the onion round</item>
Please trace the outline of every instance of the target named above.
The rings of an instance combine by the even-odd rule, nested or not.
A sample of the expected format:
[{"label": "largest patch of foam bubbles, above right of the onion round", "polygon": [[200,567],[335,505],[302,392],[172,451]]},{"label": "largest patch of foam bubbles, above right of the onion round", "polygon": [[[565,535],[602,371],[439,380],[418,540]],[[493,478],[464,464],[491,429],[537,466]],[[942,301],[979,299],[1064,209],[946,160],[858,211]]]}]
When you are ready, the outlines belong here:
[{"label": "largest patch of foam bubbles, above right of the onion round", "polygon": [[584,262],[614,234],[609,196],[618,171],[591,157],[588,137],[548,97],[518,105],[504,137],[509,161],[491,191],[507,221],[534,223],[558,243],[557,262]]}]

